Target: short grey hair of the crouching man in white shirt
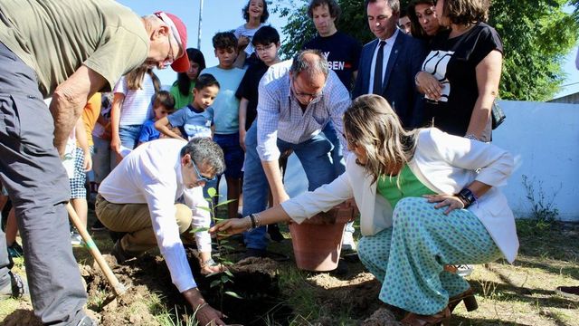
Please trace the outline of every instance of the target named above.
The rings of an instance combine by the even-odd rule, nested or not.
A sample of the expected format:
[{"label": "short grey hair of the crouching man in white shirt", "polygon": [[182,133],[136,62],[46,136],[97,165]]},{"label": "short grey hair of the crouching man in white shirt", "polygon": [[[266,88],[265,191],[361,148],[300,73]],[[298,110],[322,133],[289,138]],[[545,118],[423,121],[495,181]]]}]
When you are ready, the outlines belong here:
[{"label": "short grey hair of the crouching man in white shirt", "polygon": [[225,170],[223,150],[212,139],[195,137],[189,140],[181,149],[181,157],[183,158],[186,154],[191,156],[196,166],[206,163],[213,168],[215,175],[220,175]]}]

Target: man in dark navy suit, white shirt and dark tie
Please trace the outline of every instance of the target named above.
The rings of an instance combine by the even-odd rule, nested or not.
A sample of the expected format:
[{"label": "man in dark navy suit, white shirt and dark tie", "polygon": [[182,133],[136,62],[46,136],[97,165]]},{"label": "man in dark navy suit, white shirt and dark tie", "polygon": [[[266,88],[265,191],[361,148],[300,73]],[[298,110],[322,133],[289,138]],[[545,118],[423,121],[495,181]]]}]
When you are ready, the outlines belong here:
[{"label": "man in dark navy suit, white shirt and dark tie", "polygon": [[368,25],[377,39],[362,49],[352,97],[382,95],[398,113],[404,128],[419,127],[423,100],[414,87],[414,75],[426,55],[424,44],[397,28],[398,0],[365,0],[365,8]]}]

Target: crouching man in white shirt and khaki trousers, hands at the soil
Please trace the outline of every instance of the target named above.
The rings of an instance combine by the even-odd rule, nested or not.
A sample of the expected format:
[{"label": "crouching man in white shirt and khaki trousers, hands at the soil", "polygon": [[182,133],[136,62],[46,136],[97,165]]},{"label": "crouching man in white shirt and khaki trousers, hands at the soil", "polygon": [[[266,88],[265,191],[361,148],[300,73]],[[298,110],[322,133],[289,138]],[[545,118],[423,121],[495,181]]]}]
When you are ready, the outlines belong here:
[{"label": "crouching man in white shirt and khaki trousers, hands at the soil", "polygon": [[[222,325],[221,312],[204,302],[187,262],[181,238],[195,237],[202,273],[221,266],[211,258],[211,236],[192,231],[210,225],[205,182],[223,173],[223,151],[213,140],[157,139],[138,146],[99,187],[95,212],[114,232],[125,232],[112,254],[119,264],[158,245],[171,279],[205,325]],[[184,204],[179,204],[183,197]],[[176,204],[177,203],[177,204]]]}]

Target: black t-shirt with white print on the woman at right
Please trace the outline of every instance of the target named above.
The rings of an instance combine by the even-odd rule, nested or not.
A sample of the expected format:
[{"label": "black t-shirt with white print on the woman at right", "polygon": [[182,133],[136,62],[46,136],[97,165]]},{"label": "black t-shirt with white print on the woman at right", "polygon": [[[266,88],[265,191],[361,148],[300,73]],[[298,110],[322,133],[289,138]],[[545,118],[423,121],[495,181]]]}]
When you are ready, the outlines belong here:
[{"label": "black t-shirt with white print on the woman at right", "polygon": [[503,52],[497,31],[479,23],[465,34],[449,38],[443,31],[432,39],[431,53],[422,63],[422,70],[431,72],[444,84],[442,99],[425,104],[427,122],[452,135],[464,136],[470,115],[479,97],[476,67],[491,51]]}]

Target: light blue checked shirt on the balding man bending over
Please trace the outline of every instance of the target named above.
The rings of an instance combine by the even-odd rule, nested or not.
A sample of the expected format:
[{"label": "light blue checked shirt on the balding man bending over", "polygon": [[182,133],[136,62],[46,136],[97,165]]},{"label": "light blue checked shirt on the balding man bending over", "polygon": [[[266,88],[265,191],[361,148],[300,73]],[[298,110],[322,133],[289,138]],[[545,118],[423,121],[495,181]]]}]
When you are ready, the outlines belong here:
[{"label": "light blue checked shirt on the balding man bending over", "polygon": [[322,95],[301,110],[290,88],[290,66],[291,60],[274,64],[261,78],[257,105],[257,151],[261,160],[280,158],[277,139],[299,144],[318,135],[329,120],[334,122],[346,157],[342,116],[351,103],[346,87],[330,70]]}]

